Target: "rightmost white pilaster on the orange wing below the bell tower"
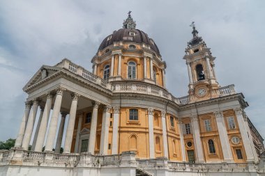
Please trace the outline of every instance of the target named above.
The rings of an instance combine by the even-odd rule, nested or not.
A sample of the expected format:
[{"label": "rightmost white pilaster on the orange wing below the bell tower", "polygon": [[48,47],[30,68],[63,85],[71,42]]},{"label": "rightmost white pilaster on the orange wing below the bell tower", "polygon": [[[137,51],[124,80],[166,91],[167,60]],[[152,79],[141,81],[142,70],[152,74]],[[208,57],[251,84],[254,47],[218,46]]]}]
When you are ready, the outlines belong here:
[{"label": "rightmost white pilaster on the orange wing below the bell tower", "polygon": [[248,135],[251,134],[248,134],[248,129],[245,127],[246,119],[243,117],[243,110],[241,108],[236,108],[234,111],[236,113],[237,122],[239,123],[239,130],[245,148],[245,154],[247,155],[247,161],[255,161],[255,157],[250,145],[250,138],[248,138]]}]

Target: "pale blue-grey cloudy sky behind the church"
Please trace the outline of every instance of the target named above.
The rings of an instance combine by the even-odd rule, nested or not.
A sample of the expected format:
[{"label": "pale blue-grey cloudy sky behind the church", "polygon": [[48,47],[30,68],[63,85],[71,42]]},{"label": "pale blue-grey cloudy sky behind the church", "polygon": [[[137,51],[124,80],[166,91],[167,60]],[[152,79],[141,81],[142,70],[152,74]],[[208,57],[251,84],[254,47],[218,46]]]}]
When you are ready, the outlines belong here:
[{"label": "pale blue-grey cloudy sky behind the church", "polygon": [[122,28],[129,10],[136,28],[158,45],[167,89],[176,97],[188,95],[183,56],[195,21],[216,57],[218,82],[243,93],[245,111],[265,137],[264,9],[262,0],[0,0],[0,141],[17,136],[27,99],[22,88],[33,74],[63,58],[91,70],[100,42]]}]

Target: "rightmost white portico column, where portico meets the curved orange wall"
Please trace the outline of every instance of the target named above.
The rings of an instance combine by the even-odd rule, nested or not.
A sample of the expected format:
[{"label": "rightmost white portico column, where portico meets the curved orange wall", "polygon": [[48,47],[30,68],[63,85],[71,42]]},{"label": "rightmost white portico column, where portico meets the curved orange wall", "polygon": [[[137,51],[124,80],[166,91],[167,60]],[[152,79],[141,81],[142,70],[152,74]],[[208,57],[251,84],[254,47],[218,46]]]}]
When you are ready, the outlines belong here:
[{"label": "rightmost white portico column, where portico meets the curved orange wall", "polygon": [[100,136],[100,154],[107,154],[107,145],[109,143],[109,117],[110,107],[105,106],[102,118],[101,136]]}]

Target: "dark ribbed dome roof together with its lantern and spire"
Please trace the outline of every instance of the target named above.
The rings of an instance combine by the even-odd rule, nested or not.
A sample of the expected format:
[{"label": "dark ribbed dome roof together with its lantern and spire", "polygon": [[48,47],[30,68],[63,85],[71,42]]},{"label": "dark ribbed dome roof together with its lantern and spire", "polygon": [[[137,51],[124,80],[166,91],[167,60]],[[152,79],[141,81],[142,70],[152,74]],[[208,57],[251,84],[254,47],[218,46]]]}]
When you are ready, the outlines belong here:
[{"label": "dark ribbed dome roof together with its lantern and spire", "polygon": [[156,54],[160,55],[156,43],[153,42],[153,40],[149,38],[146,33],[139,29],[135,29],[135,26],[136,24],[129,14],[128,18],[123,22],[123,29],[119,29],[118,31],[114,31],[111,35],[108,35],[103,42],[101,42],[98,50],[102,50],[105,47],[112,45],[114,42],[136,42],[149,45],[151,49],[156,52]]}]

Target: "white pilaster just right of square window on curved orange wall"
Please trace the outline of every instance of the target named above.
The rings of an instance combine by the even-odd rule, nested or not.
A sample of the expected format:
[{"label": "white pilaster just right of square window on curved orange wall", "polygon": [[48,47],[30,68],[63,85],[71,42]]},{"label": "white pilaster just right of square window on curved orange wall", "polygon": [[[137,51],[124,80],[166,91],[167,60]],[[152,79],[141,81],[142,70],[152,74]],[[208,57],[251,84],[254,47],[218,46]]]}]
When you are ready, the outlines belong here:
[{"label": "white pilaster just right of square window on curved orange wall", "polygon": [[148,109],[148,126],[149,126],[149,150],[150,158],[155,158],[155,146],[153,141],[153,109]]}]

